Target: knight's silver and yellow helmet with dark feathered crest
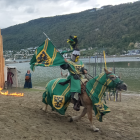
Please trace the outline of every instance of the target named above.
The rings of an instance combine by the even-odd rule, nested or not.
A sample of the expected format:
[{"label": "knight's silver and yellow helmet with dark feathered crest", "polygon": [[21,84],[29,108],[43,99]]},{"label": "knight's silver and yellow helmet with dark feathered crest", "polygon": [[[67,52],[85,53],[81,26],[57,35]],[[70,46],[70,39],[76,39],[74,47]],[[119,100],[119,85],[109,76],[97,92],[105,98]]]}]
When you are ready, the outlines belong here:
[{"label": "knight's silver and yellow helmet with dark feathered crest", "polygon": [[77,62],[79,60],[79,56],[80,56],[80,50],[78,49],[77,45],[78,45],[78,39],[77,36],[70,36],[69,39],[67,40],[67,43],[70,44],[71,50],[73,50],[72,54],[71,54],[71,60],[73,62]]}]

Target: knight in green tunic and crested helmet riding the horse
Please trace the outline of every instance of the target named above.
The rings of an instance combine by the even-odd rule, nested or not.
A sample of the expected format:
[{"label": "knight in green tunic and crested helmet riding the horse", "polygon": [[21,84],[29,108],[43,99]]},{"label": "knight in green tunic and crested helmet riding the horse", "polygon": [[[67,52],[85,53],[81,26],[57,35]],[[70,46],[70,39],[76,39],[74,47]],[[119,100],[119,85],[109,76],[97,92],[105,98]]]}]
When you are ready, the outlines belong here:
[{"label": "knight in green tunic and crested helmet riding the horse", "polygon": [[71,93],[71,98],[73,99],[74,102],[74,109],[76,111],[80,110],[80,98],[79,94],[81,94],[81,79],[82,79],[82,74],[86,74],[87,70],[84,68],[84,64],[82,61],[79,60],[80,56],[80,51],[77,48],[77,36],[70,36],[70,39],[67,41],[72,47],[73,47],[73,52],[71,54],[71,59],[67,60],[65,59],[66,64],[61,65],[60,67],[62,69],[68,69],[70,75],[67,77],[66,82],[64,83],[59,83],[61,85],[64,85],[66,83],[70,83],[70,93]]}]

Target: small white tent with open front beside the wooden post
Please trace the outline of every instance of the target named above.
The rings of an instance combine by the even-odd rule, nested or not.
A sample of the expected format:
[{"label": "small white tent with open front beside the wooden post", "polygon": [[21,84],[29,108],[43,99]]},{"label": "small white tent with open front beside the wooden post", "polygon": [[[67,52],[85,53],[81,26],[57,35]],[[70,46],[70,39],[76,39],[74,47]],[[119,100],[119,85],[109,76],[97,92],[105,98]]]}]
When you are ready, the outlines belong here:
[{"label": "small white tent with open front beside the wooden post", "polygon": [[17,71],[17,68],[15,66],[5,66],[4,67],[5,82],[7,82],[7,72],[8,72],[8,69],[10,69],[11,72],[14,74],[14,76],[12,77],[12,80],[13,80],[12,87],[18,87],[18,71]]}]

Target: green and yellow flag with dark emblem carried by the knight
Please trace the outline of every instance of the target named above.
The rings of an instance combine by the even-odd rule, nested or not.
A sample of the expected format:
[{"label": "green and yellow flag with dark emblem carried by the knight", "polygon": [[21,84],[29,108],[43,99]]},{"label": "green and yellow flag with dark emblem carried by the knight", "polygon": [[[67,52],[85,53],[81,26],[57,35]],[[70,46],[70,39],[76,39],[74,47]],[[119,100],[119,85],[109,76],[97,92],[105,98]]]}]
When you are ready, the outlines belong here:
[{"label": "green and yellow flag with dark emblem carried by the knight", "polygon": [[34,70],[35,66],[50,67],[63,64],[65,64],[64,58],[54,47],[52,42],[46,39],[45,42],[36,49],[30,61],[30,68]]}]

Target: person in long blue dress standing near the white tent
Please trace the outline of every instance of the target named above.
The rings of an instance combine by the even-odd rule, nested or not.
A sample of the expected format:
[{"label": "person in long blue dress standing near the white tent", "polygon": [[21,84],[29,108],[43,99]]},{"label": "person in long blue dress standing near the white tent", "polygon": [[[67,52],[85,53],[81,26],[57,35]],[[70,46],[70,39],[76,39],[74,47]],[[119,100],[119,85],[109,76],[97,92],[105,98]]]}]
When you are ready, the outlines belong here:
[{"label": "person in long blue dress standing near the white tent", "polygon": [[25,74],[24,88],[32,88],[32,81],[31,81],[31,73],[30,73],[30,70],[27,70],[27,73]]}]

